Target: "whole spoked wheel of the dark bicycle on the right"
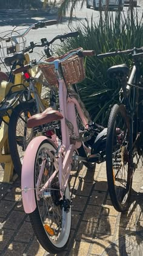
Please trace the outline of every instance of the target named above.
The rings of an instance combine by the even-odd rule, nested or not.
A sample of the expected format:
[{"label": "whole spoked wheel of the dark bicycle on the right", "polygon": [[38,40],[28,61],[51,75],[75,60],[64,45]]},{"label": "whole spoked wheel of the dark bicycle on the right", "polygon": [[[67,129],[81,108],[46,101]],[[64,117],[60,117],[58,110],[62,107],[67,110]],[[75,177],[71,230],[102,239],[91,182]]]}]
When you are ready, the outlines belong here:
[{"label": "whole spoked wheel of the dark bicycle on the right", "polygon": [[129,121],[124,105],[115,104],[108,120],[106,168],[108,191],[118,212],[127,210],[132,183]]}]

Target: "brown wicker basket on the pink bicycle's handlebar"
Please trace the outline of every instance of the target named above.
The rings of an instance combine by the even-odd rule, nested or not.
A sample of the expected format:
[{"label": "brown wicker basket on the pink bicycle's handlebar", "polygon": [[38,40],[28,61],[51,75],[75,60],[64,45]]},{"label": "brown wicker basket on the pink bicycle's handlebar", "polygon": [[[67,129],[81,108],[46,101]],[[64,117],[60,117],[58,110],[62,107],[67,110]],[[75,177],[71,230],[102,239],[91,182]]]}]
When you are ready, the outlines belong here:
[{"label": "brown wicker basket on the pink bicycle's handlebar", "polygon": [[[70,52],[67,52],[67,54],[61,55],[59,57],[50,57],[45,61],[53,62],[56,59],[64,59],[64,57],[67,56]],[[76,84],[85,79],[84,58],[73,55],[69,59],[62,62],[61,65],[64,79],[67,85]],[[55,65],[39,65],[39,69],[41,69],[48,84],[52,86],[58,86],[58,79],[55,74]]]}]

